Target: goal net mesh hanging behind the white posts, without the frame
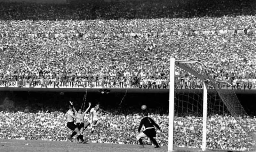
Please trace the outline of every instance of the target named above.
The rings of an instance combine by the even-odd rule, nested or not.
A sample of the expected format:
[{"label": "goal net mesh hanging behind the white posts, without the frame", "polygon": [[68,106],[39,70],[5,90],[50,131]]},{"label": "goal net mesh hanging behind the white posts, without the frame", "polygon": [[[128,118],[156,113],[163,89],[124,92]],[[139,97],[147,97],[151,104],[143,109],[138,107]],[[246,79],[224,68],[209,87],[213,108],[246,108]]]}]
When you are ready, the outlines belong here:
[{"label": "goal net mesh hanging behind the white posts, without the frame", "polygon": [[[207,86],[206,148],[230,149],[228,142],[240,150],[243,143],[255,143],[255,132],[248,114],[234,90],[221,90],[222,82],[214,80],[206,67],[196,63],[175,63],[175,122],[174,133],[184,128],[185,139],[174,135],[174,144],[182,147],[202,145],[203,82]],[[207,81],[205,81],[207,80]],[[181,122],[181,119],[185,120]],[[230,128],[234,136],[229,135]],[[219,132],[216,133],[216,130]],[[238,130],[238,131],[236,131]],[[183,142],[183,143],[182,143]],[[252,147],[247,147],[251,149]]]}]

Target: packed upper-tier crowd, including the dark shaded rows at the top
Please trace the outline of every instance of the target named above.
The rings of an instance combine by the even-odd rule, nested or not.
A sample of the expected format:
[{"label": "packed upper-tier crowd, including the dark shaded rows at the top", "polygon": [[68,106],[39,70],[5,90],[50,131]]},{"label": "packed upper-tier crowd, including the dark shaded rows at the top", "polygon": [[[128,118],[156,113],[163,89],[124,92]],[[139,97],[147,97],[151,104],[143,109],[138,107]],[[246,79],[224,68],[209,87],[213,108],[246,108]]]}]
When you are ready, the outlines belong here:
[{"label": "packed upper-tier crowd, including the dark shaded rows at the top", "polygon": [[[1,3],[0,85],[16,79],[64,86],[81,83],[79,77],[84,83],[94,77],[94,86],[106,79],[119,84],[114,87],[133,87],[134,78],[168,84],[169,58],[175,57],[204,63],[215,79],[255,87],[254,2],[179,3]],[[179,79],[194,80],[176,72]]]}]

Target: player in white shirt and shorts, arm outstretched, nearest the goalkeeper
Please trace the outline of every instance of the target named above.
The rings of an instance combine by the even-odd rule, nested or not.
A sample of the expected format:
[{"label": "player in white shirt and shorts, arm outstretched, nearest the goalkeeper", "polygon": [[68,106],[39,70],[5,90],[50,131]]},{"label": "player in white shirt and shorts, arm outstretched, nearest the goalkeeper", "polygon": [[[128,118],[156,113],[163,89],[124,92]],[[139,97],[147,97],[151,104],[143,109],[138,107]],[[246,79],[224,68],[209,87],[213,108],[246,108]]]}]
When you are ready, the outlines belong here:
[{"label": "player in white shirt and shorts, arm outstretched, nearest the goalkeeper", "polygon": [[90,110],[89,121],[84,124],[84,128],[86,129],[90,124],[92,124],[92,133],[94,133],[95,125],[99,120],[99,113],[104,112],[110,115],[107,111],[100,109],[100,103],[97,103],[94,108]]}]

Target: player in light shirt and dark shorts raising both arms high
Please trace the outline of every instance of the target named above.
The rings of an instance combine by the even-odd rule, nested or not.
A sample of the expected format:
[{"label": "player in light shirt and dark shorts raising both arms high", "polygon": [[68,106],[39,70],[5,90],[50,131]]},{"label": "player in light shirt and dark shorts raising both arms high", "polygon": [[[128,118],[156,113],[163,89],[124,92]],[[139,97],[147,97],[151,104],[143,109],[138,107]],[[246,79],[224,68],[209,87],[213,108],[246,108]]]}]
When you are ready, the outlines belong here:
[{"label": "player in light shirt and dark shorts raising both arms high", "polygon": [[[84,138],[84,135],[83,135],[83,133],[84,133],[84,116],[85,116],[85,114],[87,113],[87,111],[90,109],[90,107],[91,107],[91,103],[89,103],[89,107],[83,112],[82,111],[82,109],[79,109],[78,110],[78,112],[76,111],[76,109],[74,108],[74,111],[75,111],[75,116],[77,117],[77,118],[80,118],[80,119],[82,119],[82,120],[79,120],[79,119],[77,119],[76,120],[76,127],[78,128],[78,130],[80,131],[80,133],[81,133],[81,135],[83,136],[83,138]],[[79,142],[79,137],[78,136],[76,136],[76,139],[77,139],[77,141]]]}]

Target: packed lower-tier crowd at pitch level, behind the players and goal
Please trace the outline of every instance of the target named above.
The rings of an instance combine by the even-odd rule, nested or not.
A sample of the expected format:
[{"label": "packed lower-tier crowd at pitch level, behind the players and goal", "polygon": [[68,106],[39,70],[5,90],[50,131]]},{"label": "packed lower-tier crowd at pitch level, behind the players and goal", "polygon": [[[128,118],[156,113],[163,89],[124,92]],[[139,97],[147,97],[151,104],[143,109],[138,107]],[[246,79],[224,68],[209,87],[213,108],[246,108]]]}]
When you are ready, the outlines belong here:
[{"label": "packed lower-tier crowd at pitch level, behind the players and goal", "polygon": [[[157,131],[157,141],[161,146],[168,145],[168,116],[151,113],[161,130]],[[93,134],[85,130],[84,136],[90,142],[138,144],[137,128],[141,116],[138,113],[102,115]],[[66,127],[64,113],[48,112],[0,112],[0,139],[67,141],[70,130]],[[255,130],[256,118],[246,118]],[[129,125],[127,125],[129,124]],[[174,145],[200,148],[202,145],[202,118],[194,116],[175,117]],[[236,120],[230,116],[208,117],[206,148],[229,150],[249,150],[253,142],[242,131]],[[90,128],[89,128],[90,129]],[[176,138],[179,137],[179,138]],[[152,143],[147,139],[145,144]]]}]

